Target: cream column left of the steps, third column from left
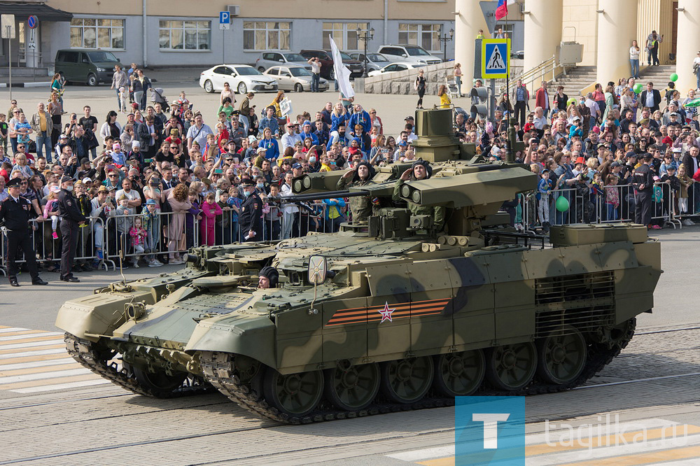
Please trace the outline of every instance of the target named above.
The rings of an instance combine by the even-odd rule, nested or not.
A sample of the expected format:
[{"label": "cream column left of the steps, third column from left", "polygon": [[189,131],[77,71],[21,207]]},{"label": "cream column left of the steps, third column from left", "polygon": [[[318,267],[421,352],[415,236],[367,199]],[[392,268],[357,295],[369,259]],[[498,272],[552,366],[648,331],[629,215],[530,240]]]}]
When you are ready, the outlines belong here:
[{"label": "cream column left of the steps, third column from left", "polygon": [[[596,80],[603,85],[630,76],[629,48],[637,35],[637,0],[599,0]],[[639,44],[642,58],[643,43]]]}]

